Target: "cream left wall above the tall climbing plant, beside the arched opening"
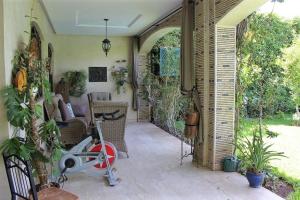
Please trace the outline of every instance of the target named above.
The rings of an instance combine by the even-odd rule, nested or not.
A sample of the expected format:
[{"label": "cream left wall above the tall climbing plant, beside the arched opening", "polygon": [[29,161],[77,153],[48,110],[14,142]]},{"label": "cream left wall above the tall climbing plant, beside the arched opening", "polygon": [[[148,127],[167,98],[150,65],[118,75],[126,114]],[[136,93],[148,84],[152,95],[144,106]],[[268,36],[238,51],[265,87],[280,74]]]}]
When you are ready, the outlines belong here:
[{"label": "cream left wall above the tall climbing plant, beside the arched opening", "polygon": [[[34,2],[34,3],[33,3]],[[5,46],[5,71],[6,84],[11,80],[11,60],[18,47],[22,47],[29,42],[30,32],[29,19],[25,15],[30,15],[32,5],[34,6],[33,15],[37,17],[33,21],[39,26],[42,38],[42,57],[47,57],[47,46],[51,42],[55,47],[54,32],[48,23],[47,17],[37,0],[4,0],[4,46]]]}]

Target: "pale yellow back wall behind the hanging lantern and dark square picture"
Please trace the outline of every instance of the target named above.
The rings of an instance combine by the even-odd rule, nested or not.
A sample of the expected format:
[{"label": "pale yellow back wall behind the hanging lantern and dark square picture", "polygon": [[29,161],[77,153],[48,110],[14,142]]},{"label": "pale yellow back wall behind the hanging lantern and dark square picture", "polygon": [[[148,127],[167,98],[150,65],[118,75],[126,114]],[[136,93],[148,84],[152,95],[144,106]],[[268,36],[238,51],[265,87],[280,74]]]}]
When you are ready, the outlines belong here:
[{"label": "pale yellow back wall behind the hanging lantern and dark square picture", "polygon": [[[102,51],[100,36],[57,35],[54,48],[54,82],[58,82],[62,74],[70,70],[83,70],[88,75],[89,67],[107,67],[107,82],[90,83],[87,81],[87,92],[110,92],[113,101],[129,103],[128,121],[136,121],[137,113],[132,110],[132,89],[126,84],[126,93],[118,95],[115,83],[111,77],[113,66],[119,66],[116,60],[125,59],[125,66],[131,67],[131,39],[129,37],[109,37],[111,50],[106,57]],[[129,63],[128,63],[129,62]]]}]

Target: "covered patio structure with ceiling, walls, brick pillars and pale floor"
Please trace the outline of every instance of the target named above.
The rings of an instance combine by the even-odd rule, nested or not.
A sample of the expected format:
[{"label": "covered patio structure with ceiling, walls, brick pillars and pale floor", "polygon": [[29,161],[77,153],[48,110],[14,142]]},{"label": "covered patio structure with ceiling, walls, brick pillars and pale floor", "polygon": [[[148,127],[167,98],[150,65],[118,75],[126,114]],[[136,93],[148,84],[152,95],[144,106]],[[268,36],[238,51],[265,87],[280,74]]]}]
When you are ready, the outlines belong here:
[{"label": "covered patio structure with ceiling, walls, brick pillars and pale floor", "polygon": [[[0,21],[0,88],[12,83],[14,66],[11,60],[15,51],[30,41],[24,32],[28,29],[28,19],[24,16],[32,12],[34,5],[36,18],[29,23],[29,29],[34,26],[39,34],[41,59],[49,59],[51,55],[48,78],[52,87],[67,71],[83,70],[88,74],[91,73],[89,68],[106,68],[106,80],[93,82],[89,77],[86,81],[83,104],[88,105],[87,93],[108,92],[112,102],[122,101],[129,105],[128,111],[124,112],[129,158],[121,155],[115,165],[121,183],[108,187],[102,174],[86,171],[68,175],[65,190],[82,200],[281,199],[264,188],[251,189],[240,174],[220,171],[224,156],[233,152],[236,25],[266,1],[184,1],[193,4],[195,27],[191,37],[195,40],[195,51],[187,57],[194,63],[190,70],[194,83],[190,86],[200,99],[203,131],[196,138],[193,156],[184,159],[182,166],[180,140],[149,122],[149,104],[139,95],[144,87],[141,79],[143,69],[149,64],[149,51],[160,37],[182,25],[181,0],[165,1],[161,7],[158,6],[160,1],[141,1],[135,5],[134,1],[0,0],[3,15]],[[157,12],[149,11],[149,6]],[[98,7],[111,16],[102,16]],[[112,25],[108,27],[112,31],[109,35],[112,48],[108,56],[101,47],[105,26],[97,21],[104,17],[112,19]],[[133,26],[134,23],[137,26]],[[121,94],[115,90],[111,75],[120,63],[126,63],[129,71],[125,81],[127,91]],[[43,101],[41,98],[38,103],[43,105]],[[0,143],[13,136],[2,100],[0,130]],[[189,151],[190,146],[184,144],[184,149]],[[0,183],[0,194],[9,199],[2,159],[0,177],[5,180]]]}]

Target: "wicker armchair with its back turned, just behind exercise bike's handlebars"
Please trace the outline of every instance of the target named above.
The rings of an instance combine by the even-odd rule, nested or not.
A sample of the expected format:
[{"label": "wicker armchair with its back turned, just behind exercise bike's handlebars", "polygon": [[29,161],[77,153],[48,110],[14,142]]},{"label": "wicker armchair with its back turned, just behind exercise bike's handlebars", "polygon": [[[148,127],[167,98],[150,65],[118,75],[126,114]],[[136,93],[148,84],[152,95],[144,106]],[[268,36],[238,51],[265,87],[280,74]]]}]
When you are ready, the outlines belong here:
[{"label": "wicker armchair with its back turned, just behind exercise bike's handlebars", "polygon": [[92,122],[95,121],[94,113],[111,113],[119,110],[118,114],[125,117],[115,121],[104,121],[101,124],[104,140],[113,143],[118,151],[125,152],[128,157],[128,149],[125,142],[125,125],[127,115],[127,102],[93,101],[89,97]]}]

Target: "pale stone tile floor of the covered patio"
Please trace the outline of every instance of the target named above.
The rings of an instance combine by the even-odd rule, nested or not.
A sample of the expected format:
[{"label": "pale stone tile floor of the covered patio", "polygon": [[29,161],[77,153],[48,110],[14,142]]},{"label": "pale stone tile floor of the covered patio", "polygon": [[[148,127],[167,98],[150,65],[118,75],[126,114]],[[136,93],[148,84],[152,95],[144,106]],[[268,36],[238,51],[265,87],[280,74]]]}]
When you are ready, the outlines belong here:
[{"label": "pale stone tile floor of the covered patio", "polygon": [[[191,157],[180,166],[180,140],[151,123],[129,123],[126,142],[130,158],[117,160],[122,179],[113,188],[100,175],[80,173],[69,176],[64,189],[80,199],[203,199],[203,200],[280,200],[265,188],[250,188],[238,173],[195,168]],[[189,146],[184,148],[188,151]]]}]

